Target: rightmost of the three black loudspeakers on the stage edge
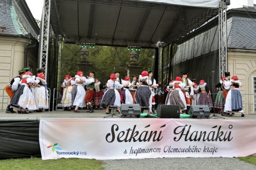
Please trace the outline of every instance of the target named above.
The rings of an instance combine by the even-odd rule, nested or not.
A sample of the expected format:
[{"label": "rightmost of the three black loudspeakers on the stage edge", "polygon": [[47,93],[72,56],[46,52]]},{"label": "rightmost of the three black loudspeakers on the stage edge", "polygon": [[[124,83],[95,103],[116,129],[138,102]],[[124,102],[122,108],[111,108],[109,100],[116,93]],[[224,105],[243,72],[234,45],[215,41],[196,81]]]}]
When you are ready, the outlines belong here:
[{"label": "rightmost of the three black loudspeakers on the stage edge", "polygon": [[207,105],[192,105],[189,109],[191,118],[208,119],[210,116],[210,109]]}]

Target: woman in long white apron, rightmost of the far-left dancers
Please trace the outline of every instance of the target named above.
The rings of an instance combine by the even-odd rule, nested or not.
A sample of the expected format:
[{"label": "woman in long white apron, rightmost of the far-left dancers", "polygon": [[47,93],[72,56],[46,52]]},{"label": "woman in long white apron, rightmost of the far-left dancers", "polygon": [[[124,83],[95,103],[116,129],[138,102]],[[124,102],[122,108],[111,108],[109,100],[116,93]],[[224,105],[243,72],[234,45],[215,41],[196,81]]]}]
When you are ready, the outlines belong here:
[{"label": "woman in long white apron, rightmost of the far-left dancers", "polygon": [[48,109],[49,108],[49,98],[48,98],[48,90],[46,89],[46,80],[44,80],[45,76],[43,73],[37,73],[37,77],[35,80],[35,92],[38,108]]}]

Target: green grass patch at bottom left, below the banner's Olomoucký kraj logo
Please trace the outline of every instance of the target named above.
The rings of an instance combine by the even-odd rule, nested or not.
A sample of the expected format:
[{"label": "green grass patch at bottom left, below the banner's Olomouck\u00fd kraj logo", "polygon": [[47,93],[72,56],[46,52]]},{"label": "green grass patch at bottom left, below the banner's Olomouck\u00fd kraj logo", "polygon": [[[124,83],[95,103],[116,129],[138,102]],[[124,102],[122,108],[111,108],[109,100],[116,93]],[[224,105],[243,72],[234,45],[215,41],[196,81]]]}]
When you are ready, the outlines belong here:
[{"label": "green grass patch at bottom left, below the banner's Olomouck\u00fd kraj logo", "polygon": [[95,159],[54,159],[42,160],[41,158],[6,159],[0,160],[1,170],[103,170],[103,162]]}]

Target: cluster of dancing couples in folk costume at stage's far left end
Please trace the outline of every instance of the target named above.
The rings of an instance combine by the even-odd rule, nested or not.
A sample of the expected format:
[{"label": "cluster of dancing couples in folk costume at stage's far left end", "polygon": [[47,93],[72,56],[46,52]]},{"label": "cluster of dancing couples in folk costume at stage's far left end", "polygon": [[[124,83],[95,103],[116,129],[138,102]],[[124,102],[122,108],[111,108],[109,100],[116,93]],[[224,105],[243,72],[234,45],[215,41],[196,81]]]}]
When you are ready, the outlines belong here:
[{"label": "cluster of dancing couples in folk costume at stage's far left end", "polygon": [[19,76],[14,77],[5,87],[6,93],[11,99],[6,108],[6,113],[16,113],[13,107],[18,108],[18,113],[25,114],[31,111],[42,112],[42,109],[48,109],[48,90],[44,78],[43,69],[37,69],[36,76],[29,72],[29,68],[20,70]]}]

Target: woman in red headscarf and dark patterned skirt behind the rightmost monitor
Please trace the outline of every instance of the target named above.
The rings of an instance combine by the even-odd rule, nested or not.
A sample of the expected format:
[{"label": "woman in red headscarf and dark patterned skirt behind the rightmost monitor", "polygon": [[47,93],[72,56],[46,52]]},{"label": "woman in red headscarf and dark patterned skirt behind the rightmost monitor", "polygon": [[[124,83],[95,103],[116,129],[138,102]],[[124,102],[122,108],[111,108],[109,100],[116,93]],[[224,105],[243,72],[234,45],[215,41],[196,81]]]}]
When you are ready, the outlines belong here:
[{"label": "woman in red headscarf and dark patterned skirt behind the rightmost monitor", "polygon": [[199,81],[199,99],[198,105],[207,105],[209,108],[213,107],[212,97],[210,95],[210,90],[208,84],[205,83],[204,80]]}]

